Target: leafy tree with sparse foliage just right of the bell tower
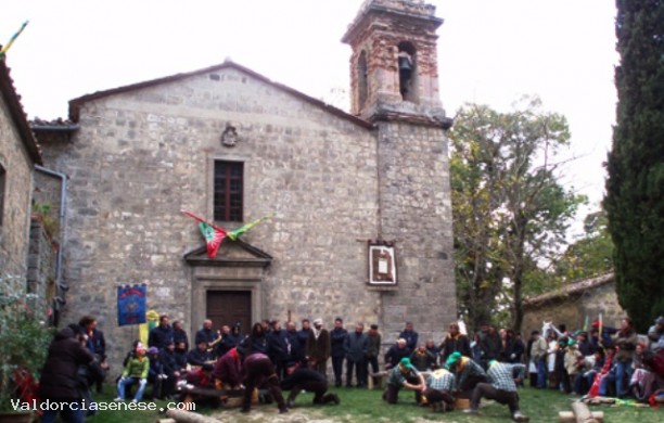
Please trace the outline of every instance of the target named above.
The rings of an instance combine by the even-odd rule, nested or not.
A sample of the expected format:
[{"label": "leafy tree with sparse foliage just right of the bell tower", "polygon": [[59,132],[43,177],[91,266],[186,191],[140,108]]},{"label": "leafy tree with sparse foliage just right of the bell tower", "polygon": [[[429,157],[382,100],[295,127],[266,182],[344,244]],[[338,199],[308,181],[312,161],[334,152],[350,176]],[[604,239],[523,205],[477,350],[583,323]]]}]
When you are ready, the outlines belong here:
[{"label": "leafy tree with sparse foliage just right of the bell tower", "polygon": [[582,197],[558,183],[566,145],[566,119],[525,99],[514,112],[465,105],[457,113],[451,142],[451,188],[457,292],[472,326],[500,308],[511,325],[523,320],[528,274],[564,243]]}]

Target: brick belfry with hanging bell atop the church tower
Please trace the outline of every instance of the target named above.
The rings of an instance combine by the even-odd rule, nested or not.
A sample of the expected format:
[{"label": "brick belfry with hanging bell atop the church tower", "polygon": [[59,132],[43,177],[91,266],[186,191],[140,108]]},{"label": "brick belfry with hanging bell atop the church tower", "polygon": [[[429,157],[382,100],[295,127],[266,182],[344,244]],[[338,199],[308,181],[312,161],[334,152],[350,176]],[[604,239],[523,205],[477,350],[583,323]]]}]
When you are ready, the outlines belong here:
[{"label": "brick belfry with hanging bell atop the church tower", "polygon": [[368,0],[342,41],[350,56],[352,113],[381,119],[445,121],[438,92],[436,29],[421,0]]}]

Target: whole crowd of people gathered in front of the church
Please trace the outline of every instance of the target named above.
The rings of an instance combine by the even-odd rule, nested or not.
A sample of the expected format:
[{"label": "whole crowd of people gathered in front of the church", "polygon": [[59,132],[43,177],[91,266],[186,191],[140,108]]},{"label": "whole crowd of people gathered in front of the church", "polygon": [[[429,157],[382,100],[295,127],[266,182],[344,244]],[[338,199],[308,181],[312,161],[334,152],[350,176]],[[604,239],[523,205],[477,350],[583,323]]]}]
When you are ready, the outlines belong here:
[{"label": "whole crowd of people gathered in front of the church", "polygon": [[[378,325],[365,330],[358,322],[348,331],[342,318],[330,330],[322,319],[305,319],[299,329],[291,321],[284,329],[278,320],[265,320],[246,334],[240,324],[216,330],[212,320],[205,320],[190,347],[181,322],[171,325],[163,315],[150,331],[148,345],[136,341],[127,354],[116,400],[130,396],[140,401],[148,390],[151,398],[180,395],[180,400],[216,407],[234,392],[242,396],[242,411],[250,411],[255,393],[260,392],[263,400],[274,401],[280,412],[286,412],[302,390],[314,393],[314,403],[340,403],[339,396],[328,392],[332,383],[363,388],[384,381],[383,399],[388,403],[397,402],[401,389],[410,389],[417,403],[433,411],[452,410],[457,399],[465,398],[464,411],[476,413],[482,398],[489,398],[507,405],[511,418],[522,422],[528,418],[520,411],[518,388],[525,379],[540,389],[652,400],[664,388],[664,317],[654,323],[647,342],[637,337],[629,318],[618,329],[595,322],[589,331],[575,332],[546,323],[527,341],[494,325],[469,336],[464,328],[451,323],[436,343],[422,342],[407,322],[382,355]],[[62,380],[72,369],[76,369],[75,385]],[[92,388],[101,392],[107,369],[103,333],[93,317],[84,317],[79,324],[60,331],[51,345],[41,397],[92,401]],[[61,389],[63,384],[71,392]],[[133,395],[128,393],[133,388]],[[290,390],[286,399],[282,389]],[[54,421],[51,414],[43,421]]]}]

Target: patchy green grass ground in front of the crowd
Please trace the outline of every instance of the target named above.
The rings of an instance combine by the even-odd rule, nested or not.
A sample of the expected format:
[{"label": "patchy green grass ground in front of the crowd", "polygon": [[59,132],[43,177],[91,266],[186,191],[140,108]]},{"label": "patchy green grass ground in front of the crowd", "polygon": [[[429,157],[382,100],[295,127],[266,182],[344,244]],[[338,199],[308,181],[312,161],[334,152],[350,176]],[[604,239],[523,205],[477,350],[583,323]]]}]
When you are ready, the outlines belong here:
[{"label": "patchy green grass ground in front of the crowd", "polygon": [[[106,385],[104,394],[98,395],[95,399],[100,402],[111,402],[115,397],[115,387]],[[432,413],[427,408],[414,405],[411,392],[401,392],[397,405],[387,405],[381,399],[380,390],[365,390],[355,388],[332,389],[341,398],[340,406],[311,406],[311,394],[302,394],[297,397],[295,408],[288,414],[278,414],[274,405],[257,406],[250,414],[241,414],[233,410],[199,410],[204,414],[216,414],[220,420],[227,422],[298,422],[306,421],[328,423],[369,423],[369,422],[412,422],[422,423],[429,421],[440,422],[509,422],[508,408],[498,403],[483,407],[478,415],[467,415],[461,411],[448,413]],[[559,411],[571,411],[571,402],[575,397],[560,394],[554,390],[536,390],[524,388],[520,392],[521,408],[524,414],[531,416],[531,422],[558,422]],[[155,401],[157,408],[166,407],[166,401]],[[604,422],[640,422],[655,423],[664,422],[664,410],[649,408],[635,408],[627,406],[609,407],[593,406],[592,410],[604,412]],[[93,418],[88,418],[91,423],[115,423],[115,422],[150,422],[154,423],[161,415],[156,411],[102,411]]]}]

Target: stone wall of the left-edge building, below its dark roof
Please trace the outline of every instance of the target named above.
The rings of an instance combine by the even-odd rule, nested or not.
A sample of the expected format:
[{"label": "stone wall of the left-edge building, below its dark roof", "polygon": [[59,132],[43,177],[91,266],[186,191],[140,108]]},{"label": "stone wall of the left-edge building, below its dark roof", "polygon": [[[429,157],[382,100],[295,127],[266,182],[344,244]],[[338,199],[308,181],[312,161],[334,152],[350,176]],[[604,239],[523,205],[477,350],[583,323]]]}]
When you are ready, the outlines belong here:
[{"label": "stone wall of the left-edge building, below its dark roof", "polygon": [[2,95],[0,95],[0,165],[7,171],[0,227],[0,272],[25,278],[33,162]]}]

